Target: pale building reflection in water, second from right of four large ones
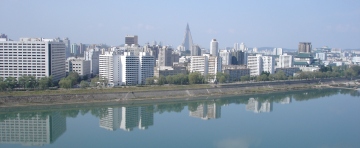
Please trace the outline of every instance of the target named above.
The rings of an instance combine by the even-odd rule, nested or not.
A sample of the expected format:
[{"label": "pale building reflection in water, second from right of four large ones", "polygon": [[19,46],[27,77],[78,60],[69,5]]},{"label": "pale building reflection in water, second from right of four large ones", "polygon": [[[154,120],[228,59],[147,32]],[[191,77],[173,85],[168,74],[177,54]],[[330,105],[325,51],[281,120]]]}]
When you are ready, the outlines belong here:
[{"label": "pale building reflection in water, second from right of four large ones", "polygon": [[221,106],[214,103],[202,103],[196,111],[190,111],[190,117],[201,118],[203,120],[217,119],[221,116]]}]

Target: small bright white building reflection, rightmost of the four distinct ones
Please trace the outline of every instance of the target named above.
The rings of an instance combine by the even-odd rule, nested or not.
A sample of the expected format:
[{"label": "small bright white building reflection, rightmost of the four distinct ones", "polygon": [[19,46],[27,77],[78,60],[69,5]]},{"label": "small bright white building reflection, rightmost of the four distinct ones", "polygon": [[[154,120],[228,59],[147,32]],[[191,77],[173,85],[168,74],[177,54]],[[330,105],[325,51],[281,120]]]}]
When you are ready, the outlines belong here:
[{"label": "small bright white building reflection, rightmost of the four distinct ones", "polygon": [[259,102],[257,99],[250,98],[248,104],[246,104],[246,110],[253,111],[254,113],[271,112],[272,108],[273,102],[270,100]]}]

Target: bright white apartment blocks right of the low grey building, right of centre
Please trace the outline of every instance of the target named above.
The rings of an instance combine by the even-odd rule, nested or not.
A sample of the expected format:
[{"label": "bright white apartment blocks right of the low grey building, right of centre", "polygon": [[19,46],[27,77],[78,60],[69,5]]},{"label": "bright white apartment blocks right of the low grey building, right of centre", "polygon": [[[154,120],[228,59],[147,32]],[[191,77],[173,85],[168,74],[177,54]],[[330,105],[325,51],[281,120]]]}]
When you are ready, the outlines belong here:
[{"label": "bright white apartment blocks right of the low grey building, right of centre", "polygon": [[275,58],[273,56],[263,56],[260,54],[248,56],[247,66],[250,69],[250,76],[258,76],[263,71],[273,74],[275,69]]}]

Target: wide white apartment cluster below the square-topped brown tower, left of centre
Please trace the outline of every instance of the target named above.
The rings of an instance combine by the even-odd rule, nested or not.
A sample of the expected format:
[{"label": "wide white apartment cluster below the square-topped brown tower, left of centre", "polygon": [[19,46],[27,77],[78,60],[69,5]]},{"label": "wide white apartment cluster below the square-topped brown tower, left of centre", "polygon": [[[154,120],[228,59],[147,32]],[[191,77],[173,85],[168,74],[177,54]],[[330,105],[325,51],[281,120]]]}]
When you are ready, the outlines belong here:
[{"label": "wide white apartment cluster below the square-topped brown tower, left of centre", "polygon": [[99,76],[106,78],[109,86],[145,84],[146,78],[154,76],[154,61],[146,52],[139,56],[132,52],[106,52],[99,58]]}]

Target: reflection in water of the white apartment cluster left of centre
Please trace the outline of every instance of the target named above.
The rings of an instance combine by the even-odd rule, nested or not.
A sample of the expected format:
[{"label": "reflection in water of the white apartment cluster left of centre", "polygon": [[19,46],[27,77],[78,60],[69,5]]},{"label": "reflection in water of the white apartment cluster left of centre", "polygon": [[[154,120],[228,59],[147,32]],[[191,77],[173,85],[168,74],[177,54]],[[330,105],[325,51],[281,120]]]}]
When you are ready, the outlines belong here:
[{"label": "reflection in water of the white apartment cluster left of centre", "polygon": [[108,114],[100,118],[100,127],[111,131],[132,131],[135,127],[145,130],[152,125],[154,113],[148,111],[147,107],[108,108]]}]

